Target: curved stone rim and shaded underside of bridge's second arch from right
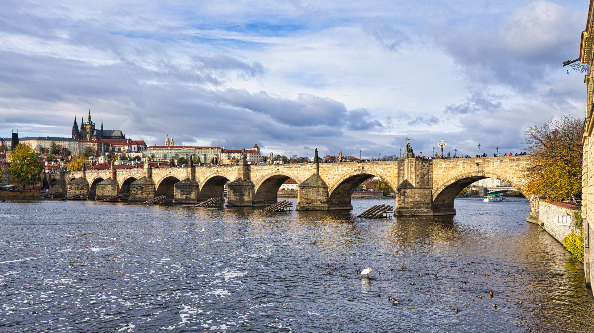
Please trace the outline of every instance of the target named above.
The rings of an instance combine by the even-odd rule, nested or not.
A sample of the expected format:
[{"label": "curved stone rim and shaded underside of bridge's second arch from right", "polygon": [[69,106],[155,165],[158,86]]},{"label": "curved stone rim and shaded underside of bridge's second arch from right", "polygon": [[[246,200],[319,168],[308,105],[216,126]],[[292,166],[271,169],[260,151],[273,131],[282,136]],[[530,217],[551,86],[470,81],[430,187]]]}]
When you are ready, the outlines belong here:
[{"label": "curved stone rim and shaded underside of bridge's second arch from right", "polygon": [[350,203],[350,199],[353,192],[355,192],[355,189],[358,188],[361,183],[372,177],[380,177],[390,185],[391,188],[395,188],[386,176],[372,172],[371,170],[351,172],[337,180],[334,185],[328,189],[328,208],[333,207],[333,209],[352,210],[353,205]]}]

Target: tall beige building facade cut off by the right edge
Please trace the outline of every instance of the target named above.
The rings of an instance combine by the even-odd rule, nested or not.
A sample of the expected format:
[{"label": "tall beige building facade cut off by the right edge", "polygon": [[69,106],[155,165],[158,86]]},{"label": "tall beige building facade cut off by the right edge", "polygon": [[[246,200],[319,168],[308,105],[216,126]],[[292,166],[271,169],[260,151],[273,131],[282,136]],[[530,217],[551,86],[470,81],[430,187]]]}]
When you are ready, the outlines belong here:
[{"label": "tall beige building facade cut off by the right edge", "polygon": [[586,283],[590,284],[594,278],[594,262],[590,256],[590,235],[594,233],[594,138],[592,129],[594,128],[594,117],[592,115],[592,98],[594,88],[594,73],[592,65],[594,54],[592,53],[592,37],[594,37],[594,0],[590,0],[588,16],[586,20],[586,29],[582,31],[582,41],[580,45],[579,61],[587,65],[589,70],[584,77],[584,83],[587,85],[586,93],[586,119],[584,120],[583,144],[583,164],[582,164],[582,218],[583,218],[583,236],[584,236],[584,271],[586,273]]}]

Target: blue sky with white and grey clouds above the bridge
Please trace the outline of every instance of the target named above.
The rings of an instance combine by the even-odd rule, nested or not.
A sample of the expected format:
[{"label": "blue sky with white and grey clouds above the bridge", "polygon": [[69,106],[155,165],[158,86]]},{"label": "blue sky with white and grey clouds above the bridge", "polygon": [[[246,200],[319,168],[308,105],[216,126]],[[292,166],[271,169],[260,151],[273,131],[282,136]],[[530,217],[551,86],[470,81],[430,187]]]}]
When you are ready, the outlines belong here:
[{"label": "blue sky with white and grey clouds above the bridge", "polygon": [[23,1],[0,11],[0,136],[312,156],[519,151],[585,110],[586,0]]}]

